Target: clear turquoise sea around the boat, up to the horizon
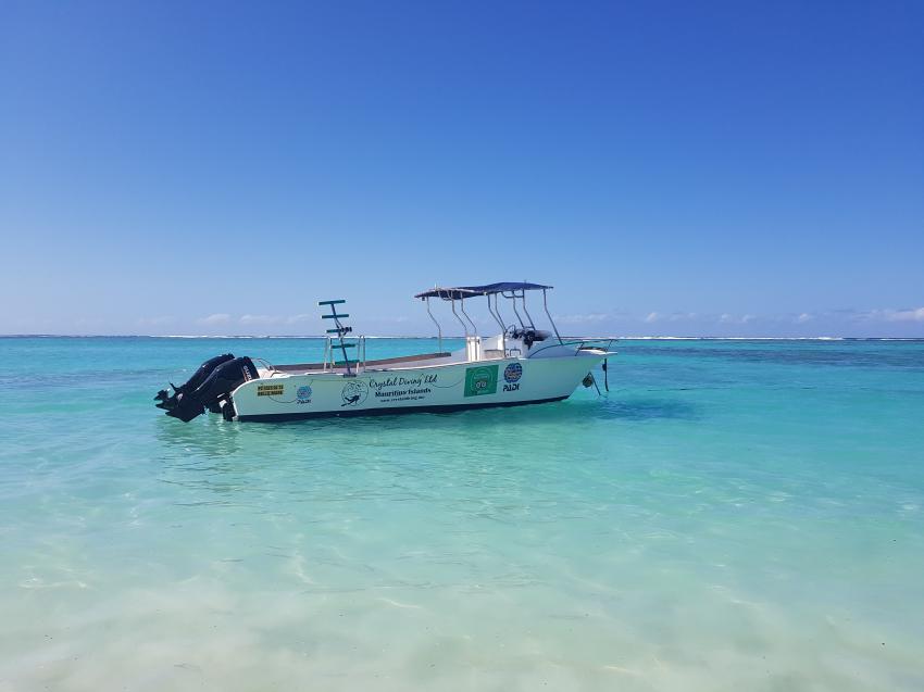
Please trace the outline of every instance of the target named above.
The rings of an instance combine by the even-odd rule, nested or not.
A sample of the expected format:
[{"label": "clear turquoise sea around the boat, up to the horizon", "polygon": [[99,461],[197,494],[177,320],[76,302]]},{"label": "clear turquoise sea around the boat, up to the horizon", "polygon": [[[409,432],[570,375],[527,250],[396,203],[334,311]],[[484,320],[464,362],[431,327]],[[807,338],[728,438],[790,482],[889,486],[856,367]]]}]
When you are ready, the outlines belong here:
[{"label": "clear turquoise sea around the boat, up to the horizon", "polygon": [[617,349],[609,397],[185,425],[168,379],[321,342],[0,339],[0,690],[924,689],[924,341]]}]

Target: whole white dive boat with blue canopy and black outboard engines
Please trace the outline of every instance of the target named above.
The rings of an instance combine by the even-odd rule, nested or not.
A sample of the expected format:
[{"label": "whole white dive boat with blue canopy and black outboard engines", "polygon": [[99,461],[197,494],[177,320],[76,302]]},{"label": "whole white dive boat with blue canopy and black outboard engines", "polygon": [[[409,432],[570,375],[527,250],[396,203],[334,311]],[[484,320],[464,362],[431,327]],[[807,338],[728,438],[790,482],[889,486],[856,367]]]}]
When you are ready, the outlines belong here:
[{"label": "whole white dive boat with blue canopy and black outboard engines", "polygon": [[[561,401],[582,381],[596,385],[590,372],[601,362],[605,368],[613,340],[563,340],[548,310],[551,288],[502,282],[419,293],[414,298],[425,302],[436,324],[438,351],[374,361],[365,357],[365,338],[352,336],[344,324],[349,315],[337,312],[345,301],[321,301],[319,305],[330,311],[322,317],[332,325],[321,363],[271,365],[258,358],[254,365],[250,357],[227,353],[203,363],[185,385],[171,385],[172,394],[162,390],[154,399],[166,415],[184,422],[207,408],[227,420],[270,422]],[[552,332],[536,328],[526,309],[527,291],[541,291]],[[517,325],[504,326],[499,297],[510,301]],[[478,336],[465,312],[465,301],[475,298],[487,299],[500,327],[497,336]],[[442,328],[430,312],[430,299],[450,304],[465,334],[465,348],[442,350]]]}]

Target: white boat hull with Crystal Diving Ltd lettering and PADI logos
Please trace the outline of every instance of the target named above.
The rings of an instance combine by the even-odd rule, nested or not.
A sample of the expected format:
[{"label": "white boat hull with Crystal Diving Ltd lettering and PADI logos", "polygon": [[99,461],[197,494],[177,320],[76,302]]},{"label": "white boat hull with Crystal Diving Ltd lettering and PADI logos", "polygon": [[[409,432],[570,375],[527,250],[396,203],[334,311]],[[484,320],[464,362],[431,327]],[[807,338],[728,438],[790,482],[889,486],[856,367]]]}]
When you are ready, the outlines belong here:
[{"label": "white boat hull with Crystal Diving Ltd lettering and PADI logos", "polygon": [[238,420],[440,413],[567,399],[602,356],[502,358],[430,367],[278,374],[245,382],[232,395]]}]

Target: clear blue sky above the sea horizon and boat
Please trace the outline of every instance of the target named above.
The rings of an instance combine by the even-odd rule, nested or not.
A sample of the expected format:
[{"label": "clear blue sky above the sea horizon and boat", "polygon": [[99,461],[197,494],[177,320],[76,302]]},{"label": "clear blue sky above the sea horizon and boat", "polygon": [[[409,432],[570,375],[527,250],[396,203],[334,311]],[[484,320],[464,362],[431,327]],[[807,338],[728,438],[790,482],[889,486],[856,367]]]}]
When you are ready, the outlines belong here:
[{"label": "clear blue sky above the sea horizon and boat", "polygon": [[[192,7],[195,5],[195,7]],[[0,334],[924,336],[924,4],[0,9]]]}]

